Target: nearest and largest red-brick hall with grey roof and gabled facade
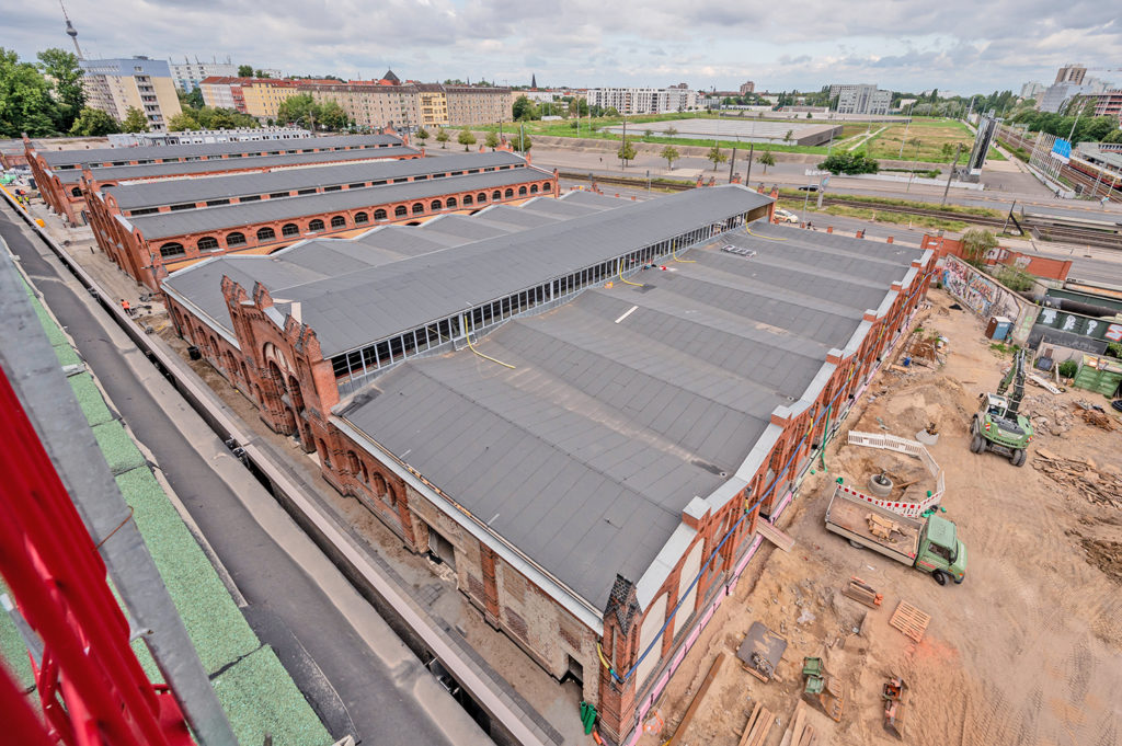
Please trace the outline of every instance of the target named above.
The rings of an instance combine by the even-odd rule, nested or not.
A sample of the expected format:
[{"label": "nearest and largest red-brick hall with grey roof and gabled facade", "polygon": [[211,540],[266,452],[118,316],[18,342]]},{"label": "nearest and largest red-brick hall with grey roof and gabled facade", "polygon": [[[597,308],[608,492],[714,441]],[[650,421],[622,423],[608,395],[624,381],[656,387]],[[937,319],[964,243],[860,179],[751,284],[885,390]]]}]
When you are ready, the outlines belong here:
[{"label": "nearest and largest red-brick hall with grey roof and gabled facade", "polygon": [[634,744],[935,271],[773,210],[573,192],[162,288],[270,427]]}]

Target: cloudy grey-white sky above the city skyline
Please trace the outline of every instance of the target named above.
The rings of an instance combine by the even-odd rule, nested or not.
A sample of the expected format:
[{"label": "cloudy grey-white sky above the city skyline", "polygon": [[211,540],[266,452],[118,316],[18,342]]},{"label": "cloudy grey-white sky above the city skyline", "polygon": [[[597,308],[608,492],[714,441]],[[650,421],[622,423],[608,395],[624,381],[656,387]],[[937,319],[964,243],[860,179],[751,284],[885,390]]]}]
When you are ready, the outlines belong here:
[{"label": "cloudy grey-white sky above the city skyline", "polygon": [[[54,0],[4,0],[0,46],[68,46]],[[184,55],[340,77],[969,94],[1122,67],[1106,0],[66,0],[88,57]],[[1113,10],[1111,10],[1113,8]],[[1096,56],[1106,55],[1106,56]],[[1113,55],[1113,56],[1110,56]],[[1092,73],[1122,82],[1122,72]]]}]

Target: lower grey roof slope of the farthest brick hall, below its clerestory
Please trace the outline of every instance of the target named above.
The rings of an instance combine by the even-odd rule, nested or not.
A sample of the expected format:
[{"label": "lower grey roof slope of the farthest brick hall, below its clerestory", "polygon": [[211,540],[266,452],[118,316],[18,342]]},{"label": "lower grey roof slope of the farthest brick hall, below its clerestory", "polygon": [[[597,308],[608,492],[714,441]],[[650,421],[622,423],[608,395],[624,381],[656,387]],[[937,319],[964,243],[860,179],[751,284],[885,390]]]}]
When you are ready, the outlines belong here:
[{"label": "lower grey roof slope of the farthest brick hall, below its clerestory", "polygon": [[[401,158],[417,155],[416,148],[389,147],[364,148],[357,150],[321,150],[319,153],[291,153],[283,156],[257,156],[255,158],[211,158],[208,160],[182,160],[178,163],[150,163],[137,166],[101,166],[93,168],[93,177],[105,182],[141,181],[162,176],[191,174],[220,174],[224,171],[242,171],[246,168],[283,168],[286,166],[305,166],[321,163],[342,163],[357,160]],[[76,181],[82,172],[79,169],[56,171],[55,175],[65,181],[73,176]]]}]

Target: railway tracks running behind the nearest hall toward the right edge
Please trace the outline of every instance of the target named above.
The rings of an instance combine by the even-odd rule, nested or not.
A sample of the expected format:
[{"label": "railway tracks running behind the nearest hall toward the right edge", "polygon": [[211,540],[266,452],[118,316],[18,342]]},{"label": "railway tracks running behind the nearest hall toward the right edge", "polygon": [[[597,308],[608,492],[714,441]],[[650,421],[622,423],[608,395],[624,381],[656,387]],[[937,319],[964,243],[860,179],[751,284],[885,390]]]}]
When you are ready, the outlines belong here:
[{"label": "railway tracks running behind the nearest hall toward the right edge", "polygon": [[[626,186],[631,188],[646,188],[645,178],[631,178],[627,176],[594,176],[590,174],[581,174],[576,172],[561,172],[559,173],[560,178],[567,178],[570,181],[589,181],[590,176],[592,181],[600,185],[614,185],[614,186]],[[688,182],[652,182],[652,186],[659,188],[671,190],[674,192],[684,192],[687,190],[695,188],[695,185]],[[838,205],[845,208],[857,208],[862,210],[873,210],[876,212],[892,212],[898,214],[907,215],[921,215],[926,218],[937,218],[941,220],[955,220],[959,222],[969,223],[972,225],[985,225],[1002,228],[1005,225],[1005,218],[995,218],[991,215],[974,215],[969,213],[955,212],[951,210],[939,210],[939,209],[928,209],[928,208],[911,208],[905,205],[896,204],[884,204],[874,201],[854,200],[854,199],[839,199],[831,196],[822,197],[824,205]],[[1063,241],[1068,243],[1082,243],[1084,246],[1094,246],[1098,248],[1106,249],[1122,249],[1122,236],[1119,233],[1109,233],[1100,230],[1077,228],[1069,225],[1057,225],[1054,221],[1040,221],[1036,218],[1019,218],[1022,227],[1029,231],[1033,238],[1046,240],[1046,241]]]}]

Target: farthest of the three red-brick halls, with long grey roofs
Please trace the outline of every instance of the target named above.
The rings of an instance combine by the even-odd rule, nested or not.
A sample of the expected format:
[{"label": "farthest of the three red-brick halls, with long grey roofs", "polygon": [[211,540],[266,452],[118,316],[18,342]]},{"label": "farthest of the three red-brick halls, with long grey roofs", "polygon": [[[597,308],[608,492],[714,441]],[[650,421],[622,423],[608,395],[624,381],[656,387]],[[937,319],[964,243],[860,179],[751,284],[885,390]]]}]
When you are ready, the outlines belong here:
[{"label": "farthest of the three red-brick halls, with long grey roofs", "polygon": [[[407,145],[407,140],[393,133],[82,150],[46,150],[24,139],[27,162],[43,201],[75,225],[88,222],[89,188],[83,184],[83,169],[89,169],[94,181],[104,184],[270,171],[318,163],[421,157],[420,150]],[[107,174],[110,169],[112,175]]]}]

